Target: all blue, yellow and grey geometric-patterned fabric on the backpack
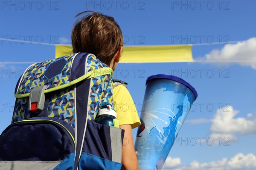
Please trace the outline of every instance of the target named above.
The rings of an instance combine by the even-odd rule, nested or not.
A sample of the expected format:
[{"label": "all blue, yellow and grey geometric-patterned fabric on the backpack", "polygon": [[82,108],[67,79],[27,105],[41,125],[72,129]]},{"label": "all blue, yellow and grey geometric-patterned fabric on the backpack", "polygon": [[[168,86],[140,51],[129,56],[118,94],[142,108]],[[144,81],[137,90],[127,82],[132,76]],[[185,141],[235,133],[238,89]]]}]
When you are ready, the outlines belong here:
[{"label": "all blue, yellow and grey geometric-patterned fabric on the backpack", "polygon": [[[46,89],[58,87],[60,85],[70,82],[70,74],[73,59],[76,54],[70,54],[64,57],[59,57],[57,59],[51,59],[45,62],[36,63],[30,66],[24,73],[20,85],[17,87],[16,94],[26,94],[38,86],[46,86]],[[60,74],[56,75],[52,79],[47,79],[44,76],[44,73],[54,62],[57,62],[60,59],[65,59],[67,63],[65,64],[63,70]],[[95,74],[102,75],[102,70],[99,68],[106,68],[108,65],[101,62],[94,55],[88,55],[86,59],[86,73],[90,71],[95,71]],[[101,72],[97,72],[97,71]],[[96,113],[99,111],[101,102],[109,102],[113,104],[113,95],[112,95],[112,76],[108,75],[108,72],[104,73],[105,75],[93,77],[90,82],[89,98],[88,104],[88,119],[94,120]],[[110,73],[109,73],[110,74]],[[73,87],[73,86],[72,86]],[[54,117],[62,119],[70,124],[70,126],[75,130],[75,104],[74,104],[74,89],[64,88],[60,91],[50,92],[47,95],[49,98],[49,103],[47,105],[47,115],[48,117]],[[54,95],[54,96],[52,96]],[[14,110],[13,122],[17,122],[23,119],[28,119],[31,116],[28,105],[28,97],[17,98],[16,107]]]}]

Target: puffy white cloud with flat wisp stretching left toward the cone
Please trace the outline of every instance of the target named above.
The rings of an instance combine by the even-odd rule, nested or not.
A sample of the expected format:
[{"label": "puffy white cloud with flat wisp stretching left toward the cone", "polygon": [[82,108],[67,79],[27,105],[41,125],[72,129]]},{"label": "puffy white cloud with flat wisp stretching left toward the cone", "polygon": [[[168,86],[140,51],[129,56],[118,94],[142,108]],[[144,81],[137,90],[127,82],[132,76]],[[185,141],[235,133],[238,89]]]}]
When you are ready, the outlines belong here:
[{"label": "puffy white cloud with flat wisp stretching left toward the cone", "polygon": [[[247,117],[236,117],[239,111],[233,109],[231,105],[218,109],[212,119],[190,119],[186,123],[195,125],[200,123],[210,122],[210,135],[213,138],[214,144],[223,142],[229,144],[237,140],[237,135],[249,135],[256,133],[256,117],[255,114],[248,113]],[[205,142],[205,139],[200,139]],[[198,142],[200,142],[198,140]]]}]

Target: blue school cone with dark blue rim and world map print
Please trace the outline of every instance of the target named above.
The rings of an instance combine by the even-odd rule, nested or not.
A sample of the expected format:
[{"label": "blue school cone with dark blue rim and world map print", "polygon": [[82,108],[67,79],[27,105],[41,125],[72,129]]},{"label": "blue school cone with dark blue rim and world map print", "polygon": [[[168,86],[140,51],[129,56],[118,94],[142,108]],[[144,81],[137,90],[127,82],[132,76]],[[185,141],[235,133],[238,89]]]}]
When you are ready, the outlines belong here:
[{"label": "blue school cone with dark blue rim and world map print", "polygon": [[135,150],[142,170],[159,170],[172,148],[197,92],[179,77],[148,77]]}]

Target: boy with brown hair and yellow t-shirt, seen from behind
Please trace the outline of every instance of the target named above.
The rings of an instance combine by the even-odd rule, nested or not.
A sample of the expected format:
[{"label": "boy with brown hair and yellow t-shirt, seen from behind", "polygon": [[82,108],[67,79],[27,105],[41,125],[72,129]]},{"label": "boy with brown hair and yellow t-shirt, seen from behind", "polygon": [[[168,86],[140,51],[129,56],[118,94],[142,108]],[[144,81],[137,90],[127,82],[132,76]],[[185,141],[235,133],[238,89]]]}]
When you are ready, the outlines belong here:
[{"label": "boy with brown hair and yellow t-shirt, seen from behind", "polygon": [[[113,17],[94,11],[84,11],[76,15],[89,13],[80,18],[72,31],[73,53],[89,52],[107,64],[113,71],[122,54],[124,40],[122,31]],[[125,130],[124,145],[122,147],[122,169],[139,169],[134,150],[132,129],[138,127],[140,119],[134,111],[134,102],[127,88],[119,85],[113,89],[114,109],[120,128]],[[128,104],[128,111],[122,110],[120,105]],[[127,139],[127,140],[125,140]]]}]

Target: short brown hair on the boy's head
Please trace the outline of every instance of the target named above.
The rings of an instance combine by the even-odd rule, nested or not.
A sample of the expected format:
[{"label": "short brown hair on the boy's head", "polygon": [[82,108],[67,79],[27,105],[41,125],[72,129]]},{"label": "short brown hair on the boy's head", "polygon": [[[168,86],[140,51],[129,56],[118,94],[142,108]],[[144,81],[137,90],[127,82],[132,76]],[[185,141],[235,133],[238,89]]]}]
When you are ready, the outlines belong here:
[{"label": "short brown hair on the boy's head", "polygon": [[122,31],[113,17],[94,11],[76,21],[71,35],[73,53],[89,52],[109,65],[124,44]]}]

